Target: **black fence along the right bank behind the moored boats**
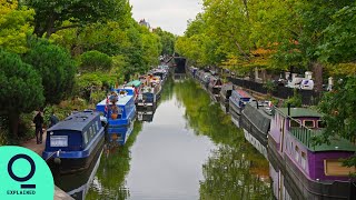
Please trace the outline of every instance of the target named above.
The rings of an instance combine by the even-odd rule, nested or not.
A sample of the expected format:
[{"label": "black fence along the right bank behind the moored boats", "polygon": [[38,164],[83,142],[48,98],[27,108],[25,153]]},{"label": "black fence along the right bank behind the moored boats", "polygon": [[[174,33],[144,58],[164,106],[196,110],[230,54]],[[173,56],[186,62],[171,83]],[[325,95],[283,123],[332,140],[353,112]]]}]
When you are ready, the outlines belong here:
[{"label": "black fence along the right bank behind the moored boats", "polygon": [[[234,84],[254,90],[259,93],[267,93],[267,89],[264,87],[263,83],[254,82],[249,80],[243,80],[237,78],[228,78],[229,81],[231,81]],[[320,93],[316,92],[314,90],[299,90],[297,89],[297,92],[301,96],[301,103],[303,104],[317,104],[317,102],[320,100]],[[294,89],[287,88],[284,86],[276,86],[276,89],[271,93],[274,97],[279,99],[288,99],[294,96]]]}]

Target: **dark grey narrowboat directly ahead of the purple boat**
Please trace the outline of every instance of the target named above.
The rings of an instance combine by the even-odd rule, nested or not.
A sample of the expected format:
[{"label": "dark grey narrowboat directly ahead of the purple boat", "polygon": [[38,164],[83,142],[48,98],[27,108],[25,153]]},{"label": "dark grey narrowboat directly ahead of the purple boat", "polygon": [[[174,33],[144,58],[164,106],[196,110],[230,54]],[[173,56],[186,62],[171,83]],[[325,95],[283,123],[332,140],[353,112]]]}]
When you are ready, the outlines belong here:
[{"label": "dark grey narrowboat directly ahead of the purple boat", "polygon": [[267,102],[253,101],[246,103],[239,120],[245,139],[266,159],[271,113],[271,108]]}]

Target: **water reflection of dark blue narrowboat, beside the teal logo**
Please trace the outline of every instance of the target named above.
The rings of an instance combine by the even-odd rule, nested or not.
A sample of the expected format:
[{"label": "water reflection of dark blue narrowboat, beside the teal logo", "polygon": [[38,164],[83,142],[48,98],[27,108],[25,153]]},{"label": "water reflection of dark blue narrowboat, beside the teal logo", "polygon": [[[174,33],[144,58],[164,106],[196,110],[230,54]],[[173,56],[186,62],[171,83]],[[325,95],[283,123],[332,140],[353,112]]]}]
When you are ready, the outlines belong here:
[{"label": "water reflection of dark blue narrowboat, beside the teal logo", "polygon": [[102,149],[96,156],[96,161],[92,162],[90,168],[85,171],[75,174],[59,174],[53,173],[56,186],[66,191],[69,196],[77,200],[86,199],[86,194],[93,181],[97,170],[100,166],[100,158]]}]

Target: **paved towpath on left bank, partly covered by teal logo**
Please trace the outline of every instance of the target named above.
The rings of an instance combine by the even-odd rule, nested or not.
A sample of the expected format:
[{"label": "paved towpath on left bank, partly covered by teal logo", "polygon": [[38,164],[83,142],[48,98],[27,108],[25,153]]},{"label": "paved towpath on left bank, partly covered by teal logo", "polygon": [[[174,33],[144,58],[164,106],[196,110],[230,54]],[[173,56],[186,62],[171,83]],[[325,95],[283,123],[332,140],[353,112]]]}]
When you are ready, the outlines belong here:
[{"label": "paved towpath on left bank, partly covered by teal logo", "polygon": [[[37,144],[36,138],[23,142],[21,146],[32,151],[37,152],[40,157],[42,157],[42,152],[44,150],[44,141],[46,141],[47,132],[43,130],[42,143]],[[65,191],[55,186],[55,200],[73,200],[70,196],[68,196]]]}]

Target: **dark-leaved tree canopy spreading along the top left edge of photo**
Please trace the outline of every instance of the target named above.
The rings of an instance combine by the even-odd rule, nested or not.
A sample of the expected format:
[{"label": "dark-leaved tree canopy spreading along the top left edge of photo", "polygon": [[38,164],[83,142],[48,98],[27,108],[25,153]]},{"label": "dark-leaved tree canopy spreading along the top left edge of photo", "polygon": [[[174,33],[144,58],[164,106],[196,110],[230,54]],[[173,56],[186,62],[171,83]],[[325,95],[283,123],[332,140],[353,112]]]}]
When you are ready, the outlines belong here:
[{"label": "dark-leaved tree canopy spreading along the top left edge of photo", "polygon": [[[131,14],[127,0],[24,0],[23,3],[36,11],[33,33],[38,37],[47,33],[48,38],[59,30],[99,21],[120,20]],[[67,20],[71,24],[63,26]]]}]

